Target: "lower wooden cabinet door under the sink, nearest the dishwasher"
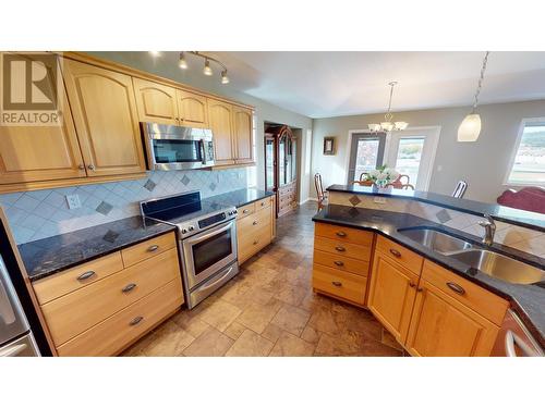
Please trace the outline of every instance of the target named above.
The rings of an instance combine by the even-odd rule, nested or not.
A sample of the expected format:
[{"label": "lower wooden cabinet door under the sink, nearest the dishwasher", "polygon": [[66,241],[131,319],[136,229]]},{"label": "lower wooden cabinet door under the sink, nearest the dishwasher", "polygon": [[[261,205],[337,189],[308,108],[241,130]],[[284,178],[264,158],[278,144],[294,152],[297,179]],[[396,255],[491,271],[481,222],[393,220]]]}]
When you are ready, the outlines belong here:
[{"label": "lower wooden cabinet door under the sink, nearest the dishwasher", "polygon": [[425,280],[417,289],[405,348],[413,356],[489,356],[499,327]]}]

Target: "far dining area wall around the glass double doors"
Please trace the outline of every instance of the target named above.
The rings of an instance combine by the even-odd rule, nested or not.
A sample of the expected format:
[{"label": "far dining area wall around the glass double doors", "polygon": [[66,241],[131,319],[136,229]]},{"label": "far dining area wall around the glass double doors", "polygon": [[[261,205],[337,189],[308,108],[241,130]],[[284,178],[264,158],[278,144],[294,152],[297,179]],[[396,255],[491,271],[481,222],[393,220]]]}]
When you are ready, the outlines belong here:
[{"label": "far dining area wall around the glass double doors", "polygon": [[[545,100],[479,107],[483,127],[475,143],[458,143],[457,132],[470,108],[395,112],[397,121],[410,126],[441,126],[429,190],[451,194],[459,180],[468,182],[465,198],[495,202],[507,188],[502,185],[523,118],[545,116]],[[313,125],[312,174],[322,174],[324,186],[346,183],[348,133],[378,123],[384,114],[315,119]],[[336,156],[323,154],[325,136],[337,136]],[[438,171],[438,168],[443,170]],[[316,191],[311,185],[311,196]]]}]

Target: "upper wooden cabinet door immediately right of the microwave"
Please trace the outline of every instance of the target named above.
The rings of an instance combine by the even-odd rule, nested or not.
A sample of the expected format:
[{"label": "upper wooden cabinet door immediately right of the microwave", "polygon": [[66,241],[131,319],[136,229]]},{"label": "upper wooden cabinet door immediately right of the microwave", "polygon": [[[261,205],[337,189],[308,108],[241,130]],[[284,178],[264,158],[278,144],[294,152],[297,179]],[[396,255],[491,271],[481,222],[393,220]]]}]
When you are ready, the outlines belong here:
[{"label": "upper wooden cabinet door immediately right of the microwave", "polygon": [[214,135],[216,165],[234,164],[232,106],[208,99],[208,118]]}]

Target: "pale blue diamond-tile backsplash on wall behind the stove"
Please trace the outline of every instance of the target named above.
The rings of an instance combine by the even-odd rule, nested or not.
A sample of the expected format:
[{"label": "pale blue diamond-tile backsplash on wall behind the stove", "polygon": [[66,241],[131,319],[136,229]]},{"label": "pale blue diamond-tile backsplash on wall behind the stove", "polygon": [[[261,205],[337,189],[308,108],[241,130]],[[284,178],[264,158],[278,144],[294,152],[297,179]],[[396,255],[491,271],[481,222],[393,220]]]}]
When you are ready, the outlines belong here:
[{"label": "pale blue diamond-tile backsplash on wall behind the stove", "polygon": [[[140,213],[138,201],[199,190],[203,198],[247,187],[246,169],[154,171],[147,177],[0,195],[17,244],[104,224]],[[66,196],[81,207],[70,209]]]}]

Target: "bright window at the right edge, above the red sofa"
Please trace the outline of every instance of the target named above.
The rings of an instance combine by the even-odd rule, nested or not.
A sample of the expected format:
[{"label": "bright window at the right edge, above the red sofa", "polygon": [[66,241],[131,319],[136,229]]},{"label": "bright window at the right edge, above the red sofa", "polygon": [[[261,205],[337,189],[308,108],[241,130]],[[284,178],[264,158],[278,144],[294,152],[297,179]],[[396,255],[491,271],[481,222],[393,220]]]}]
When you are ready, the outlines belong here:
[{"label": "bright window at the right edge, above the red sofa", "polygon": [[545,185],[545,119],[522,122],[507,184]]}]

